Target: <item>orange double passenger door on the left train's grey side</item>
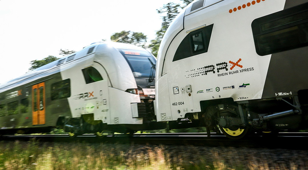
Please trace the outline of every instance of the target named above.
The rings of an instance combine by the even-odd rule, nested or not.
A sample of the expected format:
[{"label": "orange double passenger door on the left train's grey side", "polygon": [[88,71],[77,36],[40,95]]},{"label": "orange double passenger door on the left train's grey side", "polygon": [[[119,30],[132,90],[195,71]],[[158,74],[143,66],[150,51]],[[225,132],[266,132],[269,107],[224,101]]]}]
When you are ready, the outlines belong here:
[{"label": "orange double passenger door on the left train's grey side", "polygon": [[32,125],[45,124],[45,83],[32,86]]}]

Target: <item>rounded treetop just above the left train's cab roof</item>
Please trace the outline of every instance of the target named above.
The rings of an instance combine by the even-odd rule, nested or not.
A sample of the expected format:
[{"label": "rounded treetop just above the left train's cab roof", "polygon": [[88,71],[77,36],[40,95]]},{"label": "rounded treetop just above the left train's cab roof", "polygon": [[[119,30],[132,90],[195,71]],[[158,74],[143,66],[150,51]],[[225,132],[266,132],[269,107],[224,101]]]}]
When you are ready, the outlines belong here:
[{"label": "rounded treetop just above the left train's cab roof", "polygon": [[144,35],[144,33],[124,30],[119,33],[112,34],[110,40],[114,42],[134,44],[144,48],[145,43],[147,42],[147,36]]}]

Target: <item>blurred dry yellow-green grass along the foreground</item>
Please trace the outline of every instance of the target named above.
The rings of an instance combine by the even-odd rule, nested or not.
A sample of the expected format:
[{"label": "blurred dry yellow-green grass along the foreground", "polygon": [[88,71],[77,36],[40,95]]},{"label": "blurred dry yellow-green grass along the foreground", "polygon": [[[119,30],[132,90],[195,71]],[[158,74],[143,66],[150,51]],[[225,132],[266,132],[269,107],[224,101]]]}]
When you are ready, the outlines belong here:
[{"label": "blurred dry yellow-green grass along the foreground", "polygon": [[[179,151],[176,151],[179,149]],[[184,150],[186,149],[186,151]],[[232,150],[234,148],[226,148]],[[306,169],[306,164],[270,164],[266,158],[230,155],[221,148],[195,146],[149,146],[128,144],[41,143],[15,141],[0,143],[0,169],[7,170],[124,170],[124,169]],[[237,150],[237,149],[235,149]],[[228,151],[229,152],[229,151]],[[225,158],[237,157],[233,165]],[[234,153],[233,154],[239,154]],[[196,160],[197,157],[197,160]],[[229,158],[228,158],[229,159]],[[225,162],[225,163],[224,163]],[[226,163],[227,162],[227,163]],[[230,164],[230,163],[229,163]],[[230,168],[231,166],[232,168]]]}]

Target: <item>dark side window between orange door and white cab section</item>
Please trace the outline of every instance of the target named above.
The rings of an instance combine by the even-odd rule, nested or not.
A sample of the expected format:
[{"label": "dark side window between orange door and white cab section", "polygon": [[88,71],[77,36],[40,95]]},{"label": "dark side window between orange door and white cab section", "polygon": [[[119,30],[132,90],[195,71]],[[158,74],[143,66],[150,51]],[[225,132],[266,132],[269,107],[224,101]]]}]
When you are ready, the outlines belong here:
[{"label": "dark side window between orange door and white cab section", "polygon": [[51,84],[51,100],[71,97],[71,81],[65,79]]}]

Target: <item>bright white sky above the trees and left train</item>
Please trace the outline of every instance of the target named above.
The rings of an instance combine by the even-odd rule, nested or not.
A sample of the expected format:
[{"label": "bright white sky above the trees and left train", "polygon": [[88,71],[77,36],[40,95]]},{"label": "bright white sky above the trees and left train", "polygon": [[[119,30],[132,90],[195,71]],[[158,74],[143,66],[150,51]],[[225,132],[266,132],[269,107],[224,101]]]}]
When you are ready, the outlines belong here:
[{"label": "bright white sky above the trees and left train", "polygon": [[180,0],[0,0],[0,83],[23,75],[30,61],[79,51],[122,30],[148,41],[160,29],[159,9]]}]

